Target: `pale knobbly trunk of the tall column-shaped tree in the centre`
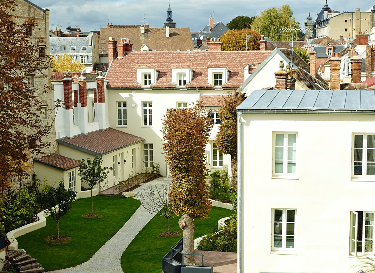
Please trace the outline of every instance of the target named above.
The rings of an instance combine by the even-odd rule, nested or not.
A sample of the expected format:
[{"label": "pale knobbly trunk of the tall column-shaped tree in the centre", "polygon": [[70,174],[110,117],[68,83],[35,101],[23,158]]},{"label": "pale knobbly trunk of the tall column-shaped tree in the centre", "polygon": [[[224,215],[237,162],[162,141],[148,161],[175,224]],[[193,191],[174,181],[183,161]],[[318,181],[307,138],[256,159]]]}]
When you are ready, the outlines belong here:
[{"label": "pale knobbly trunk of the tall column-shaped tree in the centre", "polygon": [[[181,218],[178,220],[178,225],[182,229],[183,238],[183,253],[194,253],[194,218],[187,214],[182,213]],[[193,255],[185,255],[185,264],[195,264]]]}]

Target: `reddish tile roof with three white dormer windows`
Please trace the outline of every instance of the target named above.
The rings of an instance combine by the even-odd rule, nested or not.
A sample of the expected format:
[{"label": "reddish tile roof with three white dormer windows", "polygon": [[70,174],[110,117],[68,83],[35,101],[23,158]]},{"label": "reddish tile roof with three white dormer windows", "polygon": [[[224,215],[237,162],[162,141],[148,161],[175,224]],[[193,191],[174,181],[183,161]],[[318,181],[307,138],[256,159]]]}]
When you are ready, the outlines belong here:
[{"label": "reddish tile roof with three white dormer windows", "polygon": [[[137,66],[142,63],[156,64],[159,72],[151,88],[175,88],[172,84],[172,64],[183,63],[194,71],[193,79],[186,88],[212,88],[208,84],[208,67],[214,64],[228,67],[229,78],[222,88],[238,88],[243,83],[243,69],[247,64],[259,64],[271,51],[205,51],[205,52],[129,52],[123,58],[116,58],[106,78],[107,87],[141,88],[137,83]],[[297,54],[296,54],[297,55]]]}]

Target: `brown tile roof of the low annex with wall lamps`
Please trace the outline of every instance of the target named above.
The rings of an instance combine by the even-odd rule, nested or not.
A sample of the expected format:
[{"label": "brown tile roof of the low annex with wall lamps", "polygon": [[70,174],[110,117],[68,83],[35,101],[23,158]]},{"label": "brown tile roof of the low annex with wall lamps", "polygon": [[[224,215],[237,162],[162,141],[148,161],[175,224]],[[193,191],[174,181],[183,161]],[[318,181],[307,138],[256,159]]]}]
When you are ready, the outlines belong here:
[{"label": "brown tile roof of the low annex with wall lamps", "polygon": [[95,131],[87,135],[78,135],[73,139],[58,139],[58,143],[93,154],[102,156],[121,148],[144,141],[144,138],[124,133],[113,128],[105,131]]}]

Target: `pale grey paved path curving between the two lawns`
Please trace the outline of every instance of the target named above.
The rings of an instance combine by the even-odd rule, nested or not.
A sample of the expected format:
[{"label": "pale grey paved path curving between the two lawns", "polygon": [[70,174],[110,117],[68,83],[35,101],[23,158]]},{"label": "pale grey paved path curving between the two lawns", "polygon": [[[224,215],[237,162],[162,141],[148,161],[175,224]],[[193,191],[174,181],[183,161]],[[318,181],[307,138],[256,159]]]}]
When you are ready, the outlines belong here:
[{"label": "pale grey paved path curving between the two lawns", "polygon": [[[160,177],[151,182],[148,182],[139,188],[135,189],[136,192],[144,191],[148,185],[155,185],[161,182],[170,182],[171,178]],[[132,242],[135,236],[142,230],[142,228],[153,218],[153,214],[148,213],[142,206],[136,210],[132,217],[120,228],[119,231],[102,246],[94,254],[90,260],[79,264],[75,267],[69,267],[66,269],[60,269],[50,272],[58,273],[81,273],[81,272],[92,272],[92,273],[107,273],[107,272],[118,272],[122,273],[120,259],[127,248]]]}]

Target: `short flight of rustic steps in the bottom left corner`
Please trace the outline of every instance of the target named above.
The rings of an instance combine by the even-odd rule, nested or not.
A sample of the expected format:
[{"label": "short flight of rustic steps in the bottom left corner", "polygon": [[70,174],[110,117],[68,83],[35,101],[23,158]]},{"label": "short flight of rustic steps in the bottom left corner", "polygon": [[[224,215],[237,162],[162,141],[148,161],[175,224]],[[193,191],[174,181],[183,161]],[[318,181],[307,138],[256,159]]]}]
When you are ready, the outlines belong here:
[{"label": "short flight of rustic steps in the bottom left corner", "polygon": [[24,249],[17,250],[7,250],[5,252],[6,260],[13,260],[18,265],[20,273],[39,273],[45,272],[41,264],[39,264],[36,259],[31,258],[27,255]]}]

